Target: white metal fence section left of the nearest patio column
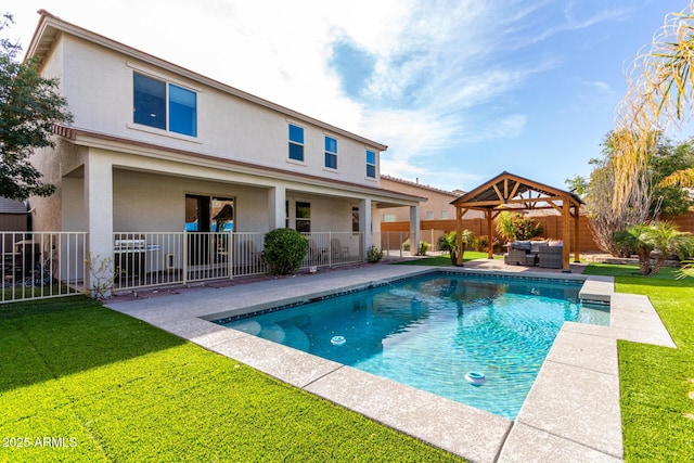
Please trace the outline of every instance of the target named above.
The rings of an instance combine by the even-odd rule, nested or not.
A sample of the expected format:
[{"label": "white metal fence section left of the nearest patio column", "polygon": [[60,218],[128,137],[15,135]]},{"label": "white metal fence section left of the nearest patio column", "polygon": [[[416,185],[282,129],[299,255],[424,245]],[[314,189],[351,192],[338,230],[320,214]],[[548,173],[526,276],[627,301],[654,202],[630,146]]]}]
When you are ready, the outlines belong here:
[{"label": "white metal fence section left of the nearest patio column", "polygon": [[0,232],[0,303],[81,294],[87,233]]}]

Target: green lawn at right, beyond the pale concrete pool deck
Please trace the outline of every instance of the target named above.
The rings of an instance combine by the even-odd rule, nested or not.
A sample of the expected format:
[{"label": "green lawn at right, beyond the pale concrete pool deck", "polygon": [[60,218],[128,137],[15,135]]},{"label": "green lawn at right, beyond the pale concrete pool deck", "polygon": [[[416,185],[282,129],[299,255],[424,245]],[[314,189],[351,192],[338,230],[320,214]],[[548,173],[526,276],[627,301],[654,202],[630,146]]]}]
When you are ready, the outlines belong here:
[{"label": "green lawn at right, beyond the pale concrete pool deck", "polygon": [[694,279],[677,281],[670,268],[641,276],[632,266],[591,265],[586,273],[614,275],[616,291],[648,296],[678,346],[618,344],[625,460],[694,461]]}]

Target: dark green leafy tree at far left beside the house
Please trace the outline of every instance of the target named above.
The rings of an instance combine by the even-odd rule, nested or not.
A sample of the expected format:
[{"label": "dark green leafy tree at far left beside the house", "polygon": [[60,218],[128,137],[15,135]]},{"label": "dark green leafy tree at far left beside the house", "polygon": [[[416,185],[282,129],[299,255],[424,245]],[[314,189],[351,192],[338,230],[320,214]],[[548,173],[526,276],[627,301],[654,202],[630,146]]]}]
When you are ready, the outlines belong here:
[{"label": "dark green leafy tree at far left beside the house", "polygon": [[[12,15],[4,13],[0,31],[11,24]],[[54,146],[54,124],[73,120],[59,80],[42,77],[36,60],[18,62],[21,51],[0,39],[0,196],[13,200],[53,194],[55,187],[43,183],[29,156],[35,149]]]}]

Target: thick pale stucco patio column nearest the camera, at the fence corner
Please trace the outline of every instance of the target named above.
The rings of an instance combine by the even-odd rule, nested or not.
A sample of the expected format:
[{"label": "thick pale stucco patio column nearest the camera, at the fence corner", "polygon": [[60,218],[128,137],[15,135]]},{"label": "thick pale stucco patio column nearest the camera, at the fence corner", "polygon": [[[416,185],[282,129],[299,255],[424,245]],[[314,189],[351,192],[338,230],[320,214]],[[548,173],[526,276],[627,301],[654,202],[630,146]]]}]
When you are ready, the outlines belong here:
[{"label": "thick pale stucco patio column nearest the camera, at the fence corner", "polygon": [[[88,253],[97,266],[103,259],[114,259],[113,254],[113,164],[105,154],[90,150],[85,163],[85,210],[87,211]],[[85,256],[89,259],[90,256]],[[113,260],[108,274],[113,275]],[[99,282],[85,275],[85,286],[93,288]],[[103,282],[102,282],[103,283]]]}]

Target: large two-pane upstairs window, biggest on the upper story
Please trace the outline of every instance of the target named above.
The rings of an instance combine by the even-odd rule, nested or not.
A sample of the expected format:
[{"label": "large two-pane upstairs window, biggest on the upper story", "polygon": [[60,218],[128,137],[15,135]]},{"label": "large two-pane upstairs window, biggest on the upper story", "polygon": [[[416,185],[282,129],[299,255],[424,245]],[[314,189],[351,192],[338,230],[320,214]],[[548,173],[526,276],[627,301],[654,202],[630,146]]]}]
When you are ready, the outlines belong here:
[{"label": "large two-pane upstairs window, biggest on the upper story", "polygon": [[133,73],[133,90],[136,124],[197,137],[195,92],[138,73]]}]

